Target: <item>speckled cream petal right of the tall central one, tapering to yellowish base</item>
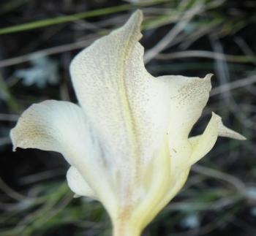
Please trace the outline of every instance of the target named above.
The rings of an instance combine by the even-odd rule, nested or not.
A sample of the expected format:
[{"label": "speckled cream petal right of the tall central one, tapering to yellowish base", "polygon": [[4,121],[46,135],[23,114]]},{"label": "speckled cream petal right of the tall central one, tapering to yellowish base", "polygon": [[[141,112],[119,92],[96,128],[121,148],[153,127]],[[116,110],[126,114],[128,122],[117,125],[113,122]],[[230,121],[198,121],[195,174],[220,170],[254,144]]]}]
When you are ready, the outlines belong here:
[{"label": "speckled cream petal right of the tall central one, tapering to yellowish base", "polygon": [[[167,129],[167,137],[170,153],[170,177],[169,187],[159,200],[145,224],[157,215],[167,205],[178,191],[184,186],[189,174],[189,156],[192,153],[192,145],[188,135],[192,126],[206,106],[211,91],[211,74],[204,78],[184,76],[162,76],[158,79],[165,83],[170,93],[170,118]],[[162,180],[163,181],[163,180]]]}]

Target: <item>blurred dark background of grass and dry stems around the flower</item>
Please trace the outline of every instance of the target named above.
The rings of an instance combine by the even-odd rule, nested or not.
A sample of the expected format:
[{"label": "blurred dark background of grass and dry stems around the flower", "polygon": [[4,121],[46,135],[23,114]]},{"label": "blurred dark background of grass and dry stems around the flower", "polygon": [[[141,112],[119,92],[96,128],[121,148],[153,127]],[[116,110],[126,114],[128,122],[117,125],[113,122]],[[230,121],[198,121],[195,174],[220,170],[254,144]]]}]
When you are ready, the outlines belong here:
[{"label": "blurred dark background of grass and dry stems around the flower", "polygon": [[72,198],[61,155],[12,153],[9,133],[34,102],[77,102],[70,61],[138,8],[152,75],[215,75],[193,134],[203,131],[214,110],[248,138],[219,138],[144,235],[256,235],[256,1],[1,0],[1,236],[110,235],[102,205]]}]

